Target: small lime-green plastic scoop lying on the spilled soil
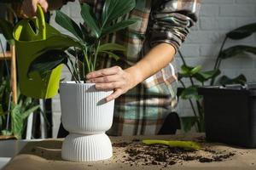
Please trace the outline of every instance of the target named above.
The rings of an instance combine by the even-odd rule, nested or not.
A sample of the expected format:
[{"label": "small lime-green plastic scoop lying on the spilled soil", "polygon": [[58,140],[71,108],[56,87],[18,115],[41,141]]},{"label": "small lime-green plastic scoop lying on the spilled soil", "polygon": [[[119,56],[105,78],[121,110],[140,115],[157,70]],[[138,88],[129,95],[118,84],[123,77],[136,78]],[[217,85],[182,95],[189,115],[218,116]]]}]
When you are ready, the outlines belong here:
[{"label": "small lime-green plastic scoop lying on the spilled soil", "polygon": [[180,147],[188,150],[200,150],[201,146],[192,141],[178,141],[178,140],[143,140],[143,144],[165,144],[171,147]]}]

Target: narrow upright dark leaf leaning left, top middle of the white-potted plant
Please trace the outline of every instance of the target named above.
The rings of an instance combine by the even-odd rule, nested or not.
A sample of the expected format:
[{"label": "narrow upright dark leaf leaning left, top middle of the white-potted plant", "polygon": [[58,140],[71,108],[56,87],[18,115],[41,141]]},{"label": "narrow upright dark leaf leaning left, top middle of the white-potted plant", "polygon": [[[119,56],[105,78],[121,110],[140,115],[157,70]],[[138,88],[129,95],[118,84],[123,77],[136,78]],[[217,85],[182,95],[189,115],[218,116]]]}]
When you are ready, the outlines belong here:
[{"label": "narrow upright dark leaf leaning left, top middle of the white-potted plant", "polygon": [[81,15],[84,19],[86,26],[95,34],[96,37],[101,37],[101,30],[97,24],[96,17],[91,12],[90,6],[86,3],[83,3],[81,6]]}]

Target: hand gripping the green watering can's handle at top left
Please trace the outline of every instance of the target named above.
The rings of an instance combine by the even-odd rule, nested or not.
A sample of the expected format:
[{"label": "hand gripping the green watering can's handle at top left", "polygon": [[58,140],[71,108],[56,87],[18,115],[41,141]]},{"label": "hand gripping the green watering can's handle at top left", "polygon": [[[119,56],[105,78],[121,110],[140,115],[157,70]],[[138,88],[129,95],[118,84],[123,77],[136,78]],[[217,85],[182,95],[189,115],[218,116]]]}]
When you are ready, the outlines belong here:
[{"label": "hand gripping the green watering can's handle at top left", "polygon": [[46,13],[48,10],[47,0],[24,0],[21,5],[21,13],[23,17],[32,18],[35,16],[38,4],[43,8],[44,13]]}]

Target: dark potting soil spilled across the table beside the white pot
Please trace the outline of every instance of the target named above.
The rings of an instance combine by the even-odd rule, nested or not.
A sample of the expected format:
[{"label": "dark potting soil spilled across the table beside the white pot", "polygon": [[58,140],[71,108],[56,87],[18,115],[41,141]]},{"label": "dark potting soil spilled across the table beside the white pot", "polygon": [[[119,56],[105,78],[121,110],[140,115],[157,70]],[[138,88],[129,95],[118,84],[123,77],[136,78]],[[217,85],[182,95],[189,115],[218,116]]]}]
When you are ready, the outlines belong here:
[{"label": "dark potting soil spilled across the table beside the white pot", "polygon": [[[202,144],[203,140],[200,139],[200,141]],[[122,162],[131,166],[159,165],[168,167],[174,164],[183,164],[184,161],[207,163],[225,161],[235,156],[235,153],[226,150],[212,150],[210,146],[202,146],[201,150],[185,150],[163,144],[147,145],[138,139],[131,142],[113,143],[113,147],[125,150]]]}]

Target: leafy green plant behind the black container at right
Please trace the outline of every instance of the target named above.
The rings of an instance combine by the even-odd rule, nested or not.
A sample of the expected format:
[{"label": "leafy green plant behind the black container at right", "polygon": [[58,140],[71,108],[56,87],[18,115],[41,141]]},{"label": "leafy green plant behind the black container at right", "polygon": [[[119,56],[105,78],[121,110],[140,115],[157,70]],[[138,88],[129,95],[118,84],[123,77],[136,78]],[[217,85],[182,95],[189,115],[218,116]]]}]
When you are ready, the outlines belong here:
[{"label": "leafy green plant behind the black container at right", "polygon": [[[183,54],[179,51],[180,57],[183,61],[181,71],[178,73],[178,81],[181,83],[182,88],[179,88],[178,96],[180,99],[189,100],[189,105],[193,111],[194,116],[182,117],[184,131],[189,131],[191,127],[196,127],[198,132],[204,132],[204,112],[202,107],[202,99],[198,94],[198,88],[205,85],[226,85],[226,84],[244,84],[247,78],[244,75],[230,78],[225,75],[218,77],[221,74],[220,65],[224,59],[234,58],[241,54],[256,54],[256,47],[246,45],[236,45],[230,48],[224,48],[226,42],[231,40],[241,40],[249,37],[256,31],[256,23],[247,26],[241,26],[233,31],[228,32],[221,48],[219,49],[218,56],[211,71],[201,71],[201,65],[190,66],[187,65]],[[189,79],[190,85],[186,85],[183,80]],[[216,79],[218,78],[218,82]],[[206,84],[207,83],[207,84]]]}]

